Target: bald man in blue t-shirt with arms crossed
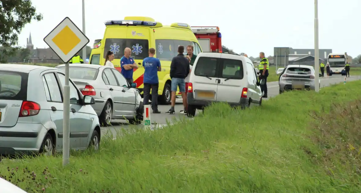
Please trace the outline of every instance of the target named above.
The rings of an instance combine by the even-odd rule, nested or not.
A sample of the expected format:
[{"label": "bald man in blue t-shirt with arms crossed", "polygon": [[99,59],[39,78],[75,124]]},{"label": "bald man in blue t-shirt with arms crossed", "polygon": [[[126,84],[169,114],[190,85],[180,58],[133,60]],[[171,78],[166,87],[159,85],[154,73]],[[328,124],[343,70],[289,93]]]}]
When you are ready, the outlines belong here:
[{"label": "bald man in blue t-shirt with arms crossed", "polygon": [[135,64],[134,59],[130,57],[132,50],[130,48],[124,49],[124,56],[120,59],[121,73],[124,78],[130,83],[133,82],[133,69],[137,69],[138,65]]}]

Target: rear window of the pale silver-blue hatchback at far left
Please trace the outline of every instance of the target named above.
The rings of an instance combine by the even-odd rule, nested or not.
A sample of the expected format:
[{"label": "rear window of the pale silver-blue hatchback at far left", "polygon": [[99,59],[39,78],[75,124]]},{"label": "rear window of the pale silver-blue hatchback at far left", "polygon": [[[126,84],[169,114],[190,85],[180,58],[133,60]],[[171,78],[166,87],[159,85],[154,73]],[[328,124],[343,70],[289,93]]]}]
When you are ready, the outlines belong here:
[{"label": "rear window of the pale silver-blue hatchback at far left", "polygon": [[0,70],[0,99],[26,100],[29,74]]}]

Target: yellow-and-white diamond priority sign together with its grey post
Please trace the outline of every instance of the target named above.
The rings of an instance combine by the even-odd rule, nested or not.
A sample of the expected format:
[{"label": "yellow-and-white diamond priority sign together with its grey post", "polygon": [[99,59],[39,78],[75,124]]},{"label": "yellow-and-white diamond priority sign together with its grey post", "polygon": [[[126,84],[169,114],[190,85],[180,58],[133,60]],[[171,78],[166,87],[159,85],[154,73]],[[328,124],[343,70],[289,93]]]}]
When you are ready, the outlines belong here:
[{"label": "yellow-and-white diamond priority sign together with its grey post", "polygon": [[65,17],[45,38],[44,42],[65,63],[64,112],[63,112],[63,166],[69,163],[70,154],[70,86],[69,61],[89,43],[89,39]]}]

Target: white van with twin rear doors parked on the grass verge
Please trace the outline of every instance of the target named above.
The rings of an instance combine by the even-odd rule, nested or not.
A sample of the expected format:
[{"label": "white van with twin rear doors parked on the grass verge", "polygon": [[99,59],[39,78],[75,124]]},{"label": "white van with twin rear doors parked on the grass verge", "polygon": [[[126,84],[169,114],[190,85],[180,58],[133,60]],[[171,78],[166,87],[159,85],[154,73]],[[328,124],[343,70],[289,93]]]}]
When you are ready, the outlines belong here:
[{"label": "white van with twin rear doors parked on the grass verge", "polygon": [[262,103],[256,70],[248,57],[228,53],[199,53],[188,84],[188,117],[212,102],[249,107]]}]

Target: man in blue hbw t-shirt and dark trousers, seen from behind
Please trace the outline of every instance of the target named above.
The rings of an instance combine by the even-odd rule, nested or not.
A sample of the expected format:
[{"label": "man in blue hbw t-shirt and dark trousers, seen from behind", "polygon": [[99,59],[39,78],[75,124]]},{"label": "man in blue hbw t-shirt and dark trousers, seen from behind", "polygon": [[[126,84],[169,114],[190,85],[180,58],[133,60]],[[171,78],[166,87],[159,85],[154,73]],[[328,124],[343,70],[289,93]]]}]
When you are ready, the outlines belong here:
[{"label": "man in blue hbw t-shirt and dark trousers, seen from behind", "polygon": [[143,104],[149,104],[149,94],[152,89],[152,110],[153,113],[160,113],[158,111],[158,72],[161,71],[160,61],[155,58],[156,50],[149,48],[149,57],[143,59],[144,79],[143,79]]}]

